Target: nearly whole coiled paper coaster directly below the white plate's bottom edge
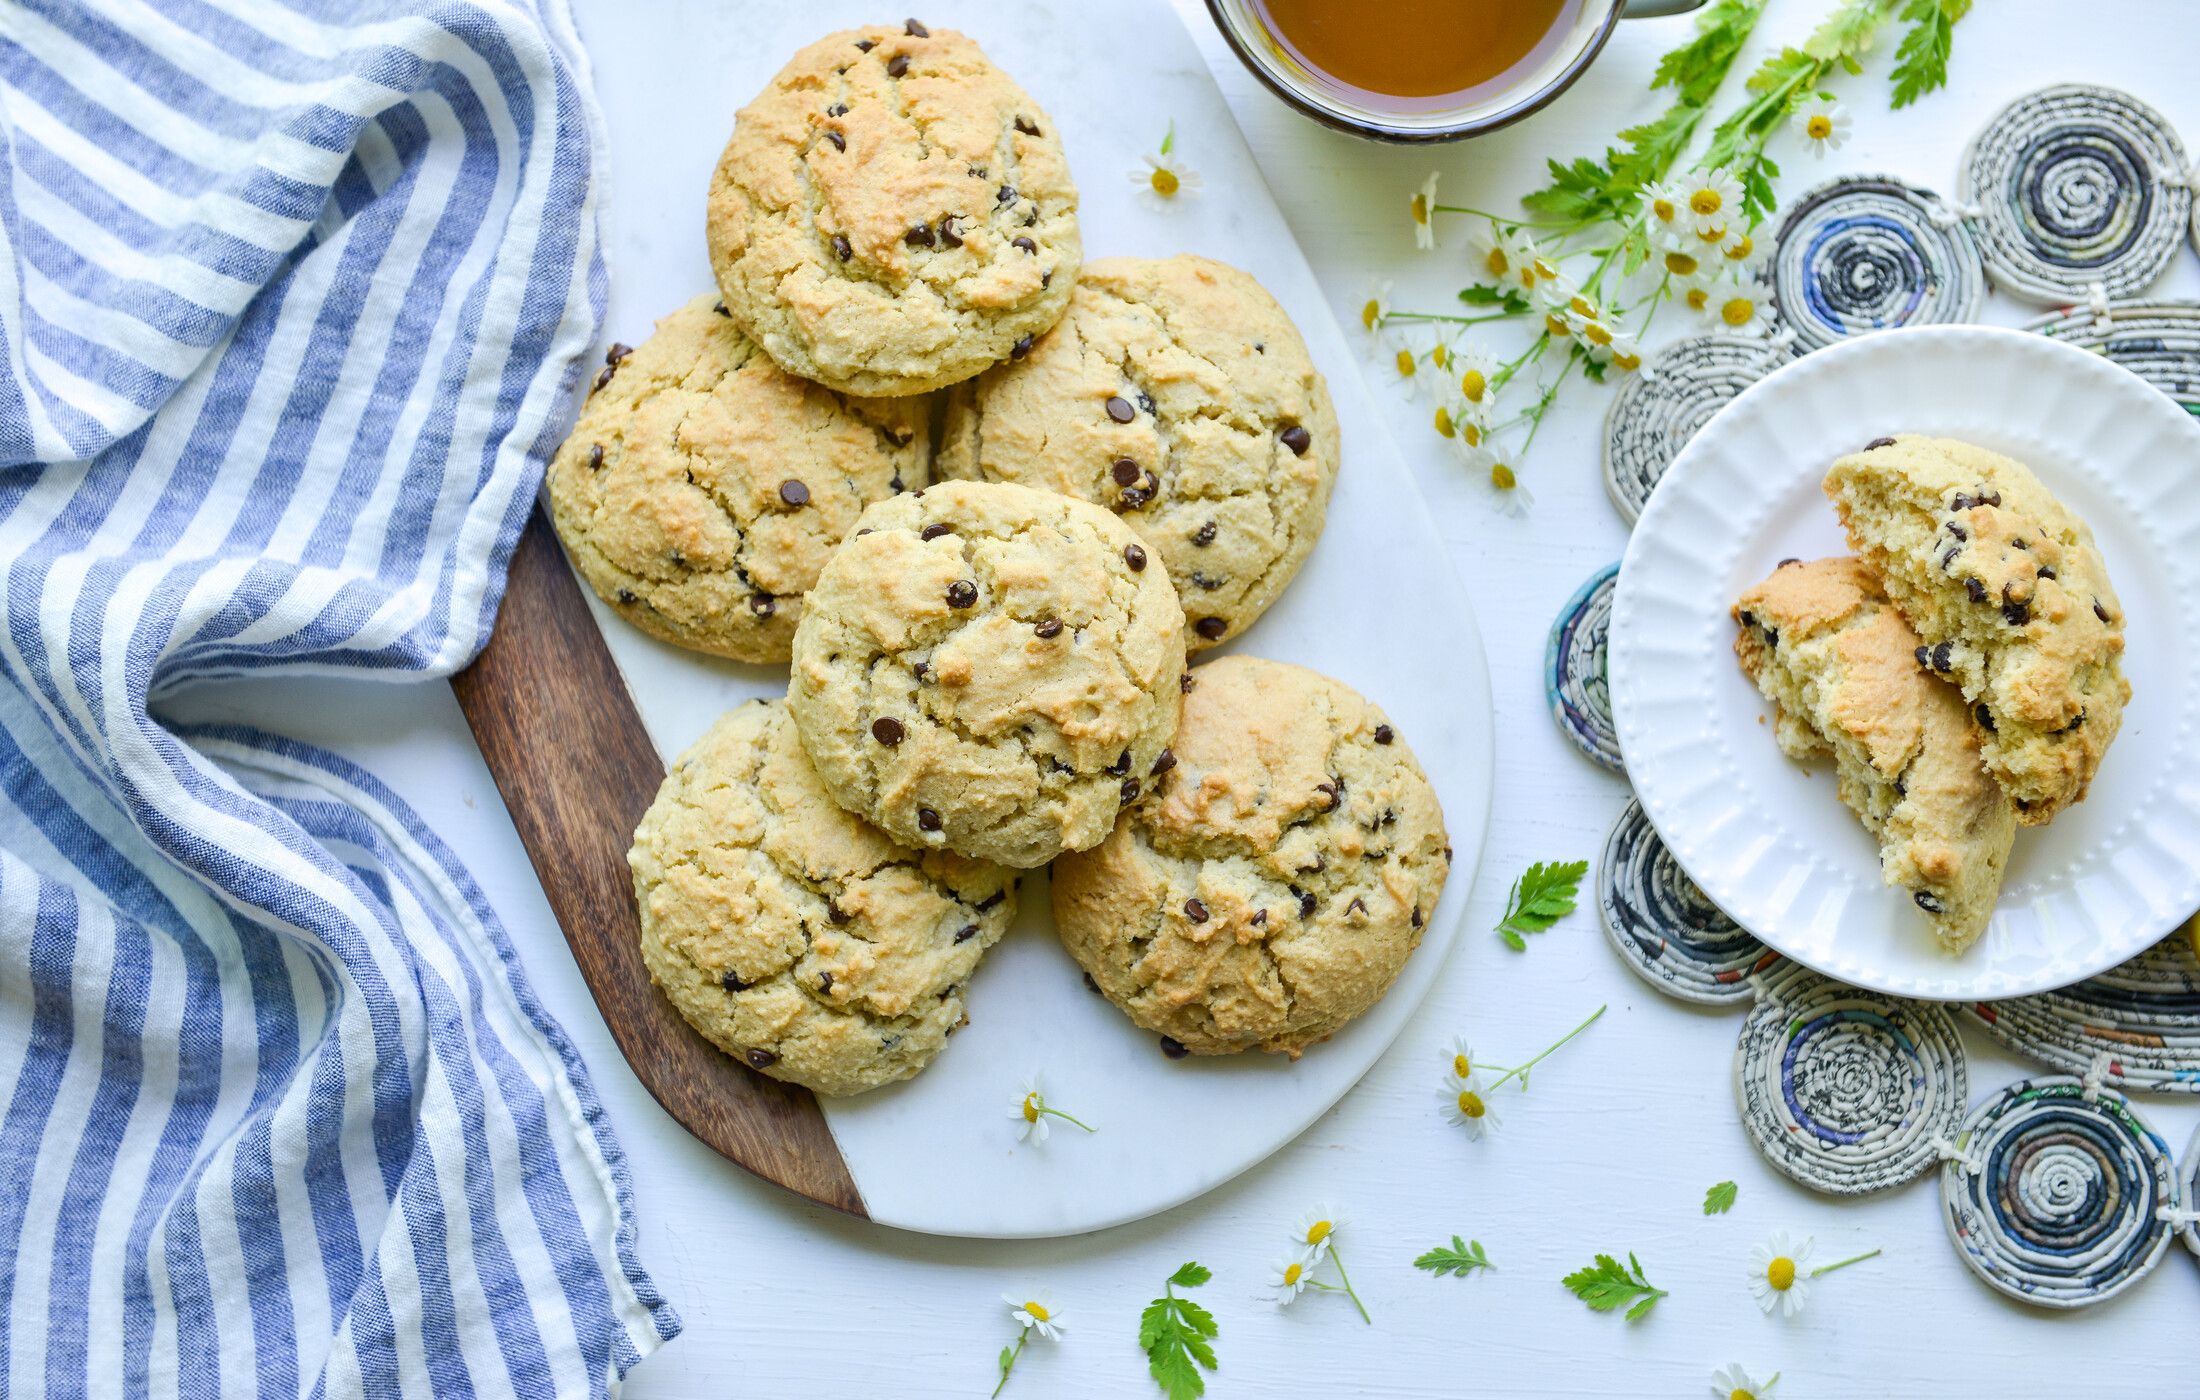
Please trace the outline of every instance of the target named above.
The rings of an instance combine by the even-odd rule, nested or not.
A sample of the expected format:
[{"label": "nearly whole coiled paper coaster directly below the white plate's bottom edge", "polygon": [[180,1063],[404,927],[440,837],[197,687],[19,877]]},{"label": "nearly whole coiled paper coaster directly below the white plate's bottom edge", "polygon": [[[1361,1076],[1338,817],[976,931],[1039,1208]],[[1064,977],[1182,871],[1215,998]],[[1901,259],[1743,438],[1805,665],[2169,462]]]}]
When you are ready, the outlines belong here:
[{"label": "nearly whole coiled paper coaster directly below the white plate's bottom edge", "polygon": [[1857,991],[1789,966],[1734,1048],[1742,1127],[1813,1191],[1863,1195],[1916,1180],[1962,1120],[1956,1021],[1929,1002]]}]

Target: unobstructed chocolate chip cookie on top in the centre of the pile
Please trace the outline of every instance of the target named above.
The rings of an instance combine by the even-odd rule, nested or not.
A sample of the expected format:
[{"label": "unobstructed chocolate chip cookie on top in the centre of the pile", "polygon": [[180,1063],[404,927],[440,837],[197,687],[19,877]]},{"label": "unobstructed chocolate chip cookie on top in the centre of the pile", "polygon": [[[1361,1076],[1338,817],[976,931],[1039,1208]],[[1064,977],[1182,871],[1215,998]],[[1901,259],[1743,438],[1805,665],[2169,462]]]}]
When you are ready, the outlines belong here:
[{"label": "unobstructed chocolate chip cookie on top in the centre of the pile", "polygon": [[944,482],[865,511],[818,575],[788,704],[847,810],[1045,865],[1107,836],[1177,731],[1181,621],[1107,511]]}]

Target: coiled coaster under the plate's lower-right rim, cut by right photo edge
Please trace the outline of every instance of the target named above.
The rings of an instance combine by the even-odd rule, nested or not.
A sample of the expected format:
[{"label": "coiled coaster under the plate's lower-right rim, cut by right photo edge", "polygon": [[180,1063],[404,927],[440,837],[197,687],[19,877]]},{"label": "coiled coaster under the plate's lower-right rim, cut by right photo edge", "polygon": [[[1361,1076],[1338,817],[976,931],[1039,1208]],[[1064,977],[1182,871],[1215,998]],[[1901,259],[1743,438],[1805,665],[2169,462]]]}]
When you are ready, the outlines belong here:
[{"label": "coiled coaster under the plate's lower-right rim, cut by right photo edge", "polygon": [[2013,1054],[2101,1083],[2200,1094],[2200,953],[2191,925],[2075,986],[1962,1010]]}]

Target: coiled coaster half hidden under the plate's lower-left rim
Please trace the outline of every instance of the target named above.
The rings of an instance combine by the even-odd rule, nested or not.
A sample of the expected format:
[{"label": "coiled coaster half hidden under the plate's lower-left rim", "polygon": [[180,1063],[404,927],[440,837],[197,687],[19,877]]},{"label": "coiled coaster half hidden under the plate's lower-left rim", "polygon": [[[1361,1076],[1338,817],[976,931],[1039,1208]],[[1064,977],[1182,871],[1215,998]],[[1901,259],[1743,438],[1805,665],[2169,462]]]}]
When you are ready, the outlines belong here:
[{"label": "coiled coaster half hidden under the plate's lower-left rim", "polygon": [[1696,889],[1635,799],[1604,839],[1597,907],[1619,960],[1668,997],[1740,1008],[1784,964]]}]

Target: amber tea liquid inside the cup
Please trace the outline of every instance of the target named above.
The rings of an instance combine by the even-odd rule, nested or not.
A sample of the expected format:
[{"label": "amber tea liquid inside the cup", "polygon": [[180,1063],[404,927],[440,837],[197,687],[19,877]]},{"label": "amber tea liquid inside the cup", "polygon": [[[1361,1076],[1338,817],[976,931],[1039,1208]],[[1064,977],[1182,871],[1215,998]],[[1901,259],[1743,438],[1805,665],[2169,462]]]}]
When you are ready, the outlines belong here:
[{"label": "amber tea liquid inside the cup", "polygon": [[1368,106],[1465,106],[1542,64],[1582,0],[1254,0],[1291,55]]}]

